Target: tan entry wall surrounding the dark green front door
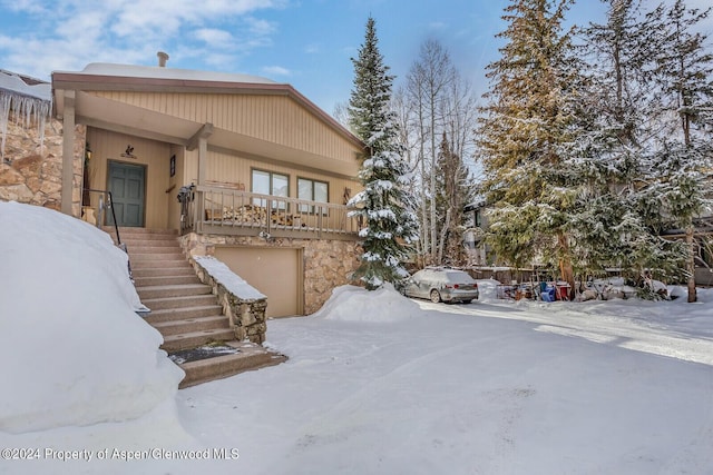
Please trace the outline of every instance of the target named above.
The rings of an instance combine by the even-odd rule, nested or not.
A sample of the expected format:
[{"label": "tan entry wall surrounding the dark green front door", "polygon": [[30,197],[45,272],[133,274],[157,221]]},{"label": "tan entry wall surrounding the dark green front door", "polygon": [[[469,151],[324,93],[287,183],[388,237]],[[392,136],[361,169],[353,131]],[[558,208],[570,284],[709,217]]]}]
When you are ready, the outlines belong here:
[{"label": "tan entry wall surrounding the dark green front door", "polygon": [[[91,148],[89,165],[90,188],[107,190],[107,162],[116,160],[133,165],[146,166],[146,208],[144,226],[147,228],[167,229],[169,221],[169,201],[175,200],[176,188],[170,189],[169,144],[147,140],[124,133],[89,128],[87,141]],[[128,145],[134,147],[136,158],[123,157]],[[173,180],[177,182],[177,178]],[[179,185],[178,185],[179,186]],[[175,190],[175,192],[174,192]],[[98,196],[91,194],[91,206],[97,206]]]}]

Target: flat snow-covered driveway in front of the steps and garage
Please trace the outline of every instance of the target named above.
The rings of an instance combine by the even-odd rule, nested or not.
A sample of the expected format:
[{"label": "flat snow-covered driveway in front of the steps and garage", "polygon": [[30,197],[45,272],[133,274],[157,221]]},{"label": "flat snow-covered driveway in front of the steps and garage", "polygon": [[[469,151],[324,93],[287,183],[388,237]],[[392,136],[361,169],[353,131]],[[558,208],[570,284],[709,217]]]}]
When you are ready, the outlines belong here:
[{"label": "flat snow-covered driveway in front of the steps and garage", "polygon": [[241,474],[713,471],[703,306],[370,298],[272,320],[291,359],[179,392],[187,431]]}]

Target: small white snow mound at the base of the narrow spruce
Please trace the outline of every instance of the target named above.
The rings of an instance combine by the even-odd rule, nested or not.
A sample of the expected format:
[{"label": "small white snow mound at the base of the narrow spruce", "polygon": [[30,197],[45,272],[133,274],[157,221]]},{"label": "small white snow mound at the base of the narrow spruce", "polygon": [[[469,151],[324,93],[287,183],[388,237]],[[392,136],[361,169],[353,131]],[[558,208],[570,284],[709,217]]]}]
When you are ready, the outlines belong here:
[{"label": "small white snow mound at the base of the narrow spruce", "polygon": [[377,290],[345,285],[332,290],[332,296],[316,318],[341,321],[403,321],[421,313],[419,305],[399,294],[391,284]]}]

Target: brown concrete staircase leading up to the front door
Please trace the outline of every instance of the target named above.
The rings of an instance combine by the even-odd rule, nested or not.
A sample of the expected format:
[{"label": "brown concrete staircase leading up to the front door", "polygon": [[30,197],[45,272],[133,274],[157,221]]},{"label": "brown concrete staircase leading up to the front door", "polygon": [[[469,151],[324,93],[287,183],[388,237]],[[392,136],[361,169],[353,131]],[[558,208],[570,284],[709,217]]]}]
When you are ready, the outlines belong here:
[{"label": "brown concrete staircase leading up to the front door", "polygon": [[[116,243],[114,229],[107,231]],[[152,310],[145,320],[163,335],[163,349],[176,357],[195,348],[234,348],[232,354],[179,363],[186,373],[180,388],[286,359],[260,345],[235,340],[212,288],[201,283],[184,257],[175,230],[119,228],[119,236],[128,249],[136,290]]]}]

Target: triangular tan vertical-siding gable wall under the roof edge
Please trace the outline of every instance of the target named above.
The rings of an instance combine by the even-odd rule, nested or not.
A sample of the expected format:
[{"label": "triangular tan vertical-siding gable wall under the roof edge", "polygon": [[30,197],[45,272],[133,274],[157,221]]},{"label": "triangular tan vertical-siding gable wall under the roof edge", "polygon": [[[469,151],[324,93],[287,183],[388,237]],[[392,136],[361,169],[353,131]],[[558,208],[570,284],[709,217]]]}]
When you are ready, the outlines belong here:
[{"label": "triangular tan vertical-siding gable wall under the roof edge", "polygon": [[354,145],[282,95],[91,92],[118,102],[195,121],[353,165]]}]

